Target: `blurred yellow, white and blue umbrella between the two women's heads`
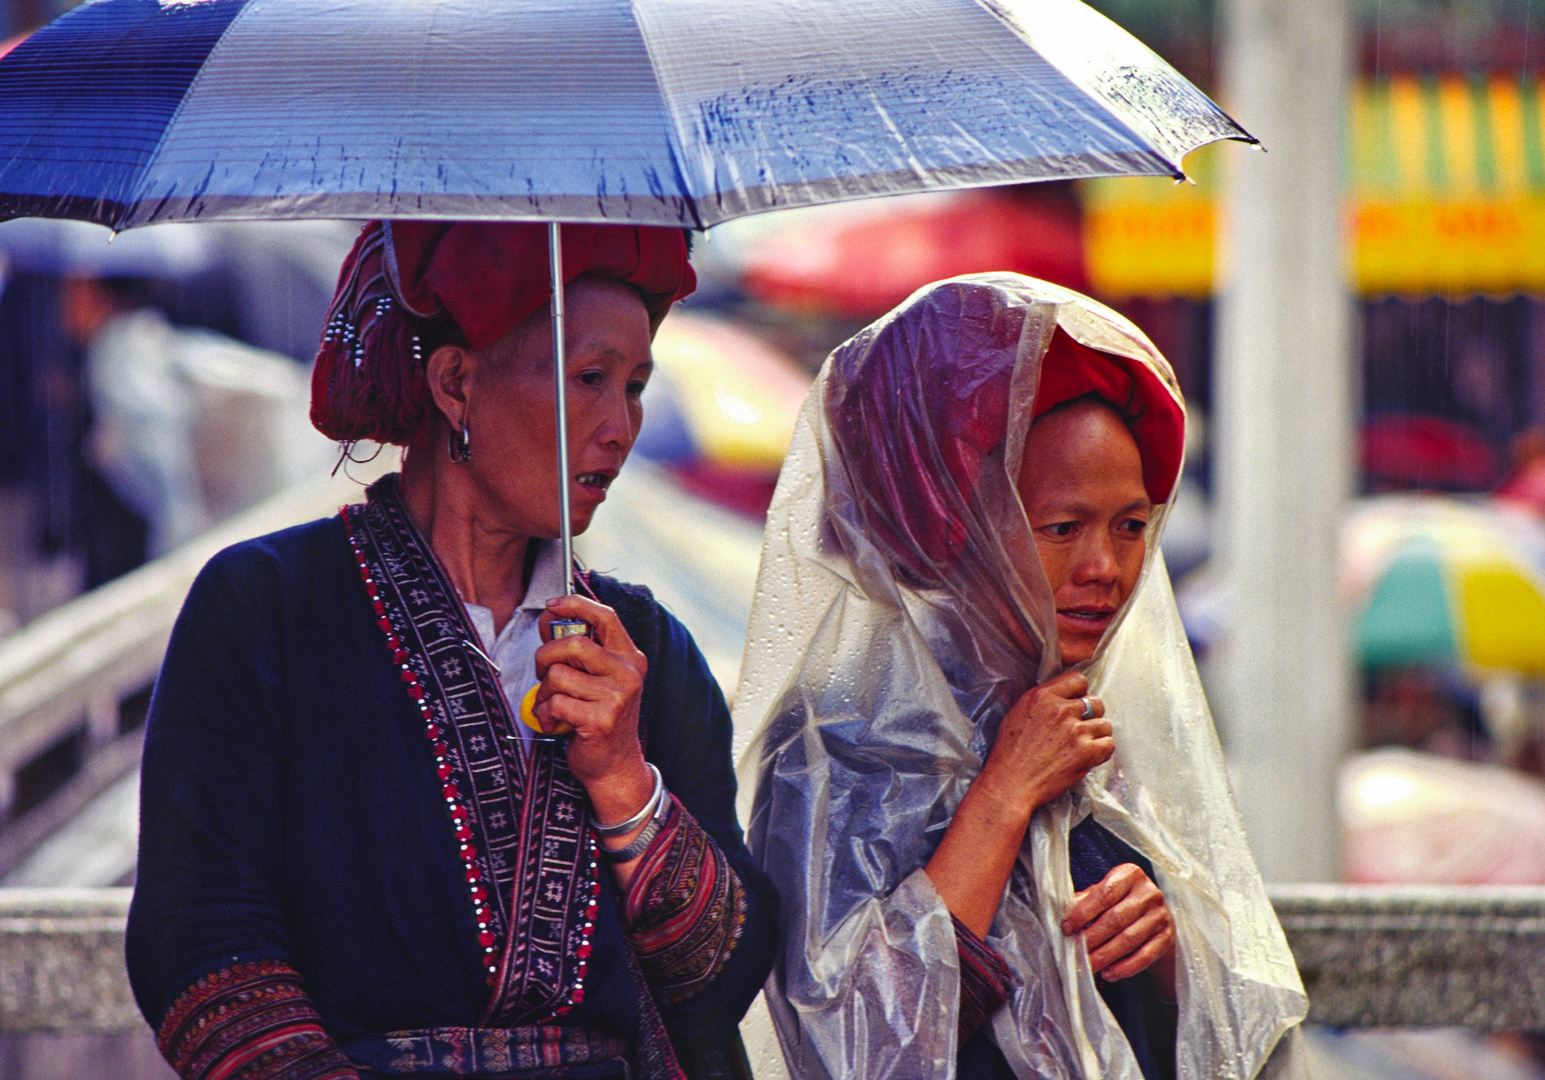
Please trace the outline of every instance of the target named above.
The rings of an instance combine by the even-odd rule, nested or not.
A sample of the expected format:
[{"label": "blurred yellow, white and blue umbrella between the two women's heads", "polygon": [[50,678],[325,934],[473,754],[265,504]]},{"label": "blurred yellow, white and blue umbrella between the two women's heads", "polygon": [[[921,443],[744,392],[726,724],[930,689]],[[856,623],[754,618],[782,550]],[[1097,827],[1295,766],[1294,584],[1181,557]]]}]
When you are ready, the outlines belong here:
[{"label": "blurred yellow, white and blue umbrella between the two women's heads", "polygon": [[660,326],[654,358],[635,453],[695,494],[766,513],[810,372],[749,331],[694,312]]}]

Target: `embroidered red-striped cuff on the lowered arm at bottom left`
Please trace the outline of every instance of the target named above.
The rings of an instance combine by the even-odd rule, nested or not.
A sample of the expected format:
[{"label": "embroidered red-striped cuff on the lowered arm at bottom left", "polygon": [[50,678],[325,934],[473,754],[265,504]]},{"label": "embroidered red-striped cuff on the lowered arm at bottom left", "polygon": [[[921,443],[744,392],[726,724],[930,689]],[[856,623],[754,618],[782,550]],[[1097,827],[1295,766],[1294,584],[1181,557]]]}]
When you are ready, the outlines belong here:
[{"label": "embroidered red-striped cuff on the lowered arm at bottom left", "polygon": [[300,975],[273,959],[190,986],[162,1018],[156,1044],[182,1080],[358,1080]]}]

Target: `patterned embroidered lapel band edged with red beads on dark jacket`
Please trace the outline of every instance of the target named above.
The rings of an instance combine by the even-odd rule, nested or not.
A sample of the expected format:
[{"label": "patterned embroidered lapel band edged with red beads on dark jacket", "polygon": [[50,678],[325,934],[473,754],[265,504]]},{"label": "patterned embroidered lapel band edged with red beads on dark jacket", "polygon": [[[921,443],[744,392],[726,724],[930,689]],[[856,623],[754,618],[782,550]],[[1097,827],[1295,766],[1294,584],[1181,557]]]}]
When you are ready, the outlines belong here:
[{"label": "patterned embroidered lapel band edged with red beads on dark jacket", "polygon": [[601,893],[584,788],[561,748],[521,751],[497,675],[473,647],[465,609],[408,521],[396,476],[341,516],[442,785],[494,990],[482,1023],[561,1017],[584,1001]]}]

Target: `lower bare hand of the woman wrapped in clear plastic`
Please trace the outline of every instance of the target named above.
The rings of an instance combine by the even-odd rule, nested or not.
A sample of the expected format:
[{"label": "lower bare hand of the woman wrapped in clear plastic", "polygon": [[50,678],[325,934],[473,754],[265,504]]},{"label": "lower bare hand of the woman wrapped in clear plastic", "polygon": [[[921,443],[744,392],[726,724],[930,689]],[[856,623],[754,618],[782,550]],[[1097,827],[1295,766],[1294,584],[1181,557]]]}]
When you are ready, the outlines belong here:
[{"label": "lower bare hand of the woman wrapped in clear plastic", "polygon": [[1077,893],[1061,925],[1083,936],[1102,978],[1114,983],[1154,967],[1160,993],[1174,1001],[1174,916],[1137,864],[1123,862]]}]

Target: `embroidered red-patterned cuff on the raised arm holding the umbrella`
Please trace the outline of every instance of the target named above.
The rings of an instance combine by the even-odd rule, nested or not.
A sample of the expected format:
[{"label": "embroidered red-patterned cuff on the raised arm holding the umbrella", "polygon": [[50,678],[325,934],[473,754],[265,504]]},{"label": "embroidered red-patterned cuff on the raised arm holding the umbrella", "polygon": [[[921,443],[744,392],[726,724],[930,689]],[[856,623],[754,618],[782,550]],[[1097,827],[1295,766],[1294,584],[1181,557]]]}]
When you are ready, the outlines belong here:
[{"label": "embroidered red-patterned cuff on the raised arm holding the umbrella", "polygon": [[640,856],[623,902],[627,938],[663,1003],[700,993],[729,963],[746,924],[746,890],[714,839],[677,802]]}]

